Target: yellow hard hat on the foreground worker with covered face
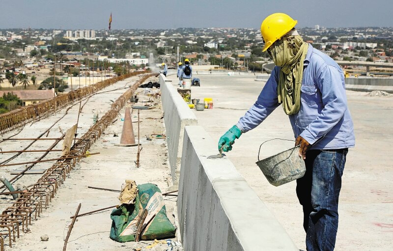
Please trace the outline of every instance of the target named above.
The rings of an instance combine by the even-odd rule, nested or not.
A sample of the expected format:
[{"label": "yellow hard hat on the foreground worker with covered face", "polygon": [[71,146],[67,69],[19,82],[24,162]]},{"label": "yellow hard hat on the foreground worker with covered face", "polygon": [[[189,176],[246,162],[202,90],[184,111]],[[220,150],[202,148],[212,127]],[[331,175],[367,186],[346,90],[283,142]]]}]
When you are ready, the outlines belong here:
[{"label": "yellow hard hat on the foreground worker with covered face", "polygon": [[265,42],[262,52],[265,52],[274,42],[294,28],[297,22],[284,13],[274,13],[265,18],[261,24],[261,34]]}]

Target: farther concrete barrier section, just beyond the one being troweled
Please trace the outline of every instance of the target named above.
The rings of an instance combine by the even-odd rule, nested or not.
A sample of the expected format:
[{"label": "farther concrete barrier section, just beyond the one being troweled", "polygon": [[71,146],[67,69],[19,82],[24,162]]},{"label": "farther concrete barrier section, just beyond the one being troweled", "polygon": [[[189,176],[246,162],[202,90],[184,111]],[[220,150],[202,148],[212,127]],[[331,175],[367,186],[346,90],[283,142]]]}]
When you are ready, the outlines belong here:
[{"label": "farther concrete barrier section, just beyond the one being troweled", "polygon": [[173,184],[178,184],[184,127],[197,125],[197,117],[167,78],[160,74],[161,102],[168,143],[168,160]]}]

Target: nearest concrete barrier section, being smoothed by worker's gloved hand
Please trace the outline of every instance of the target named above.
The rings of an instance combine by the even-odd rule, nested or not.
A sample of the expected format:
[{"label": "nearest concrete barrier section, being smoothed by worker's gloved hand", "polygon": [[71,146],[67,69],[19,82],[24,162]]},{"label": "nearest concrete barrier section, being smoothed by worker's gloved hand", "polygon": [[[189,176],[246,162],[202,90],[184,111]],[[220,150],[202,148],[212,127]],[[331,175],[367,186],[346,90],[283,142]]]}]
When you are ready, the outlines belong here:
[{"label": "nearest concrete barrier section, being smoothed by worker's gloved hand", "polygon": [[288,234],[217,145],[186,126],[177,211],[185,251],[298,251]]}]

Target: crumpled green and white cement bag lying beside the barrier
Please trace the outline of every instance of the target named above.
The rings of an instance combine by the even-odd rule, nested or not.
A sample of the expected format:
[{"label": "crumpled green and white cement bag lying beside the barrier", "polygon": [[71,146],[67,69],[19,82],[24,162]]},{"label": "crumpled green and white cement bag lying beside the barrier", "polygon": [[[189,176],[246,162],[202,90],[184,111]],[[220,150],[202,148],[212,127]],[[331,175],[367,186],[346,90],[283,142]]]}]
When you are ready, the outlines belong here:
[{"label": "crumpled green and white cement bag lying beside the barrier", "polygon": [[118,242],[135,241],[137,223],[147,209],[144,223],[153,220],[142,230],[140,240],[166,239],[175,236],[176,228],[170,223],[165,209],[164,197],[154,184],[138,186],[135,204],[122,204],[111,213],[112,227],[110,237]]}]

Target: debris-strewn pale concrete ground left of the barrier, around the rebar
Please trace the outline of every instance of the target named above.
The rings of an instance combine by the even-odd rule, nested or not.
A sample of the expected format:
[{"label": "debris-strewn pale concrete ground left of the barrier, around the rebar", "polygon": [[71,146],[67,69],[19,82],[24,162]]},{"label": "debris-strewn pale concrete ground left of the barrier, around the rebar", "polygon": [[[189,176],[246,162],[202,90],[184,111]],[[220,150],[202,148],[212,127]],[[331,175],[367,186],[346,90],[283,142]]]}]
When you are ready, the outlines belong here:
[{"label": "debris-strewn pale concrete ground left of the barrier, around the rebar", "polygon": [[[138,80],[138,77],[133,77],[125,81],[118,82],[103,91],[112,90],[119,87],[125,87],[121,90],[97,94],[89,99],[84,106],[81,113],[78,133],[82,135],[87,129],[93,125],[93,114],[97,112],[99,117],[107,112],[112,104],[123,92],[128,88],[129,84],[133,84]],[[158,81],[157,78],[150,78],[146,81]],[[153,104],[153,108],[149,110],[140,110],[140,143],[142,150],[140,152],[140,167],[137,168],[135,161],[138,147],[120,147],[114,144],[120,143],[122,132],[124,112],[120,112],[118,119],[111,124],[104,132],[102,137],[89,150],[90,153],[99,152],[98,155],[92,155],[84,158],[71,173],[67,176],[52,199],[50,206],[44,210],[38,221],[32,221],[29,225],[27,233],[21,233],[21,238],[13,243],[12,250],[15,251],[58,251],[62,250],[64,239],[67,235],[68,227],[71,223],[70,217],[73,216],[77,210],[79,203],[82,203],[80,214],[93,211],[96,209],[105,208],[119,203],[117,197],[119,193],[109,192],[103,190],[89,189],[87,186],[108,188],[120,190],[122,183],[126,179],[135,180],[137,184],[153,183],[156,184],[161,191],[173,191],[175,188],[170,187],[170,169],[168,165],[168,148],[165,137],[157,137],[152,134],[165,134],[165,128],[162,119],[161,100],[159,97],[153,97],[145,93],[144,89],[139,88],[139,103],[137,106],[144,104]],[[61,119],[57,125],[51,130],[49,137],[59,137],[60,127],[63,131],[76,123],[79,104],[74,106],[68,113],[69,115]],[[44,129],[49,127],[56,119],[63,115],[65,109],[57,112],[56,116],[52,115],[46,119],[28,124],[19,133],[18,138],[33,138],[39,135]],[[133,131],[138,141],[138,111],[133,110]],[[14,134],[10,132],[3,135],[7,138]],[[114,137],[118,136],[118,137]],[[15,138],[14,137],[14,138]],[[151,139],[151,140],[147,140]],[[39,144],[34,144],[32,149],[44,149],[48,144],[42,140]],[[4,141],[0,144],[2,150],[12,150],[22,148],[24,141]],[[61,148],[57,146],[56,149]],[[59,153],[50,154],[50,158],[56,158]],[[37,154],[21,155],[13,160],[13,163],[23,162],[36,158]],[[49,158],[49,157],[47,157]],[[0,160],[5,160],[5,156],[0,156]],[[47,168],[53,163],[46,163],[37,165],[37,169]],[[22,168],[19,166],[7,167],[1,169],[0,174],[6,177],[12,177],[9,171],[12,169]],[[28,185],[35,182],[41,175],[25,175],[23,179],[16,183]],[[170,188],[169,188],[170,187]],[[11,196],[1,195],[0,207],[3,210],[11,202]],[[166,196],[165,203],[167,215],[172,223],[175,223],[174,215],[176,213],[176,196]],[[112,220],[110,218],[112,209],[105,210],[99,213],[91,214],[78,218],[72,229],[67,251],[86,250],[86,251],[112,251],[112,250],[133,250],[133,248],[141,248],[144,250],[167,250],[167,244],[159,244],[151,249],[146,249],[153,241],[141,241],[139,243],[128,242],[118,243],[109,238]],[[41,241],[40,237],[47,234],[48,241]],[[177,240],[176,238],[173,240]],[[6,250],[10,250],[6,246]]]}]

